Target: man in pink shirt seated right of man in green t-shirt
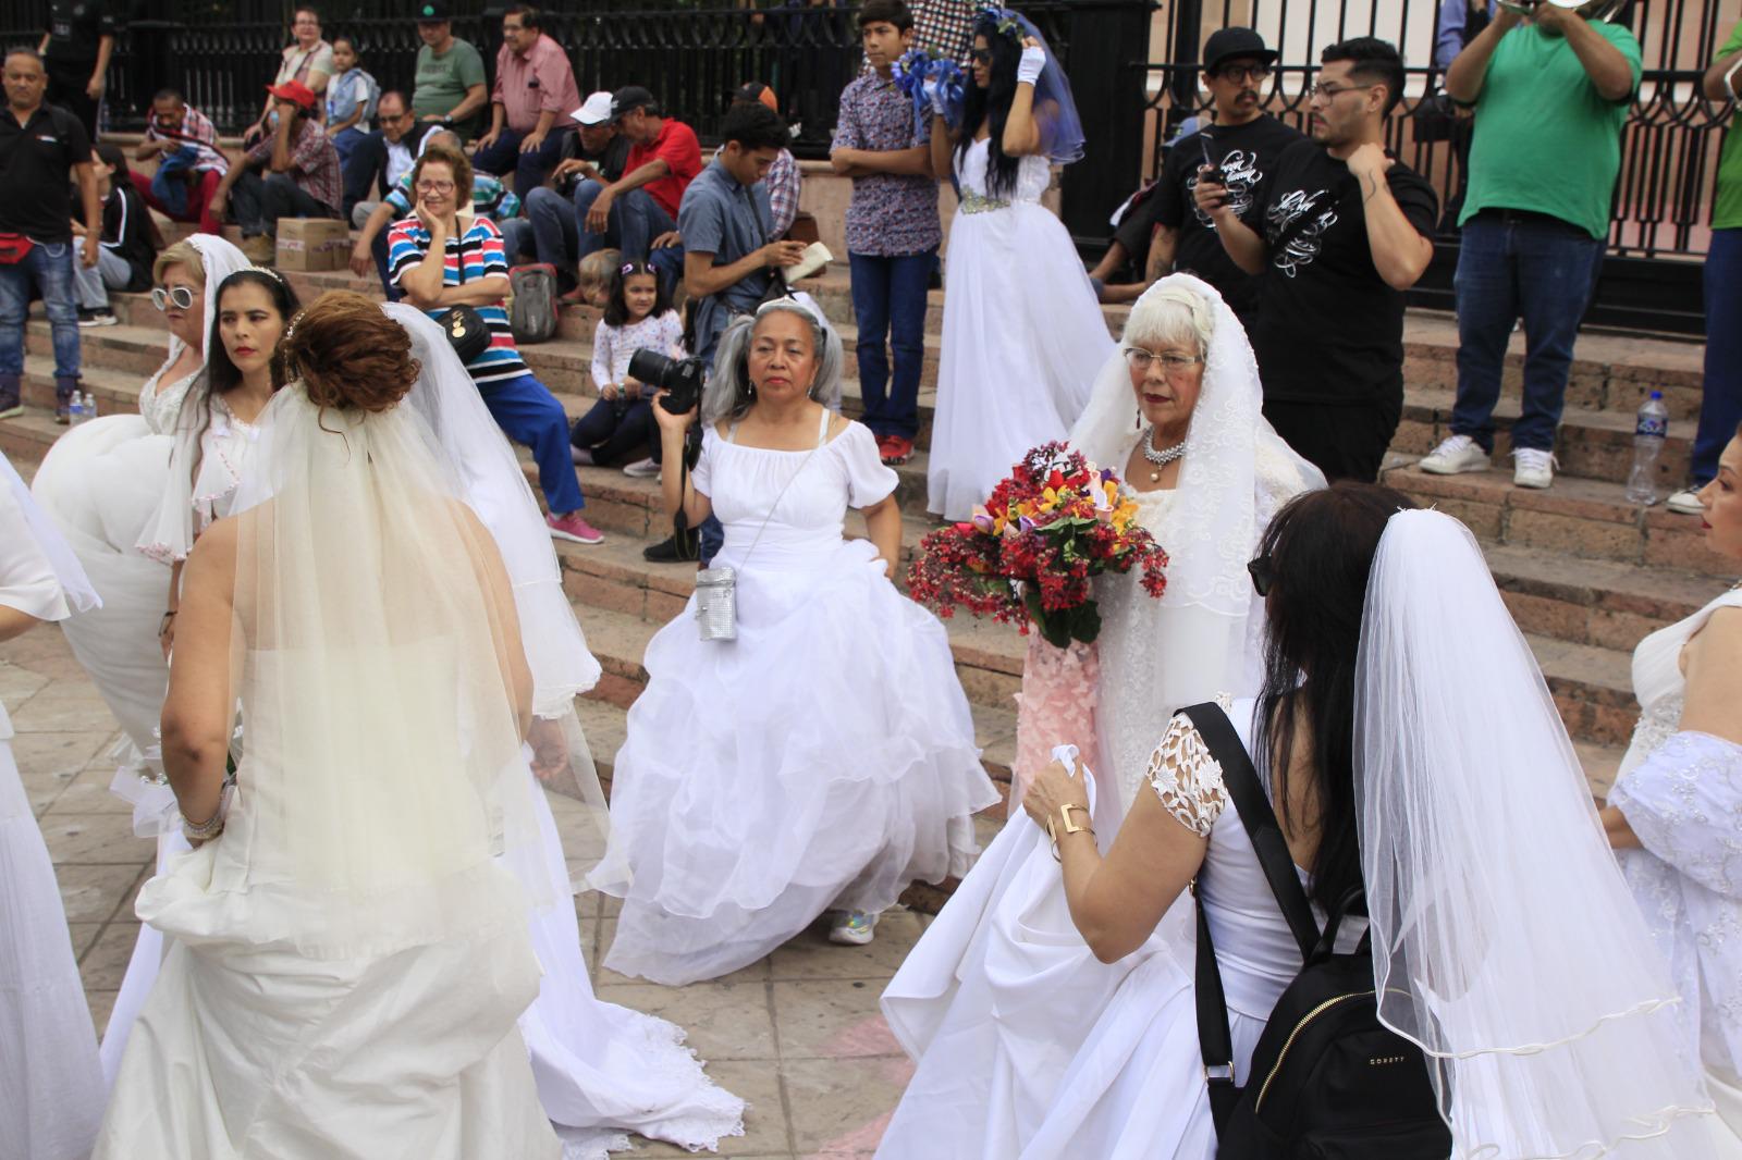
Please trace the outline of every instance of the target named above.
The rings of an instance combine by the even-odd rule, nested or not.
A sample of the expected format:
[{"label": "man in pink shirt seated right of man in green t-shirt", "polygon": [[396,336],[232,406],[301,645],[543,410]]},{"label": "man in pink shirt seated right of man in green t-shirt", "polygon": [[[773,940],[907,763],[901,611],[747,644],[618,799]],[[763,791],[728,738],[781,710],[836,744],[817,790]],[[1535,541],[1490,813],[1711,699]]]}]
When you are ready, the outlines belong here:
[{"label": "man in pink shirt seated right of man in green t-shirt", "polygon": [[514,192],[523,199],[556,167],[580,110],[568,52],[544,35],[542,21],[530,3],[510,3],[502,14],[490,132],[477,139],[472,153],[477,169],[500,178],[514,174]]}]

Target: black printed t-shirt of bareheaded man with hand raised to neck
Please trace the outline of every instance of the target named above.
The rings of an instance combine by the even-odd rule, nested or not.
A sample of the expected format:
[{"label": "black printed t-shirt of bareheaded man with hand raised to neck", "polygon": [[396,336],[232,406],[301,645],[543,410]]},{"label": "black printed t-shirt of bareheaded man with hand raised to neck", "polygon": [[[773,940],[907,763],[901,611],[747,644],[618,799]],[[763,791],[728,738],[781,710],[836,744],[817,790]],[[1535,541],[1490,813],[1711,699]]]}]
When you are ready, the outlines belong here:
[{"label": "black printed t-shirt of bareheaded man with hand raised to neck", "polygon": [[[1432,239],[1434,186],[1402,162],[1385,179],[1409,225]],[[1373,265],[1361,183],[1348,165],[1317,141],[1296,141],[1277,155],[1244,221],[1270,246],[1252,327],[1265,399],[1401,402],[1404,293]]]}]

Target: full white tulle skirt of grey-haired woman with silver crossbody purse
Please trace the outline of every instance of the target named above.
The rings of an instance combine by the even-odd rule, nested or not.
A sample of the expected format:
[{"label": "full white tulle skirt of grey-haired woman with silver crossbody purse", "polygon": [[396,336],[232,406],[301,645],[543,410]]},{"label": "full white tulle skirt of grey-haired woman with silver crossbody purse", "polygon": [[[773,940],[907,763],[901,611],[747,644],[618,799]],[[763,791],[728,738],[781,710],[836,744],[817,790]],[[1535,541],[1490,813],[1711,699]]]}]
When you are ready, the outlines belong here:
[{"label": "full white tulle skirt of grey-haired woman with silver crossbody purse", "polygon": [[944,629],[871,543],[763,543],[737,610],[735,641],[702,641],[692,599],[648,644],[611,787],[622,974],[712,979],[829,907],[962,874],[970,815],[998,801]]}]

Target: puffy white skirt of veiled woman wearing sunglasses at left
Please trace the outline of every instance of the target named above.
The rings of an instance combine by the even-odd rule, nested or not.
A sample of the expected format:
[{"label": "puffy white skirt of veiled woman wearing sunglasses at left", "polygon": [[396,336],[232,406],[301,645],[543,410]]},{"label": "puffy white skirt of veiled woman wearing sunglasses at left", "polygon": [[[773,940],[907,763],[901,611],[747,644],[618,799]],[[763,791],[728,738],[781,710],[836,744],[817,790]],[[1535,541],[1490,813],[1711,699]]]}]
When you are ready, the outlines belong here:
[{"label": "puffy white skirt of veiled woman wearing sunglasses at left", "polygon": [[134,545],[164,496],[172,444],[138,415],[105,415],[61,435],[30,488],[103,597],[103,608],[71,617],[61,629],[127,732],[134,761],[157,754],[169,686],[157,643],[169,568]]}]

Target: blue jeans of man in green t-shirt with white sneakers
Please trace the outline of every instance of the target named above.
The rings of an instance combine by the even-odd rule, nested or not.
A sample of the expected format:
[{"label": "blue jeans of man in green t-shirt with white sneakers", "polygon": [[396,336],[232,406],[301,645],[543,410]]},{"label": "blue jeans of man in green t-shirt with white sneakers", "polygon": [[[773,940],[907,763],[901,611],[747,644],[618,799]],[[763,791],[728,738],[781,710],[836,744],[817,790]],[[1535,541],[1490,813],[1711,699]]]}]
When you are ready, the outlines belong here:
[{"label": "blue jeans of man in green t-shirt with white sneakers", "polygon": [[1554,449],[1566,404],[1573,341],[1603,266],[1603,242],[1549,218],[1505,221],[1482,212],[1463,225],[1458,273],[1458,401],[1451,430],[1495,449],[1495,404],[1512,324],[1524,319],[1524,411],[1512,446]]}]

